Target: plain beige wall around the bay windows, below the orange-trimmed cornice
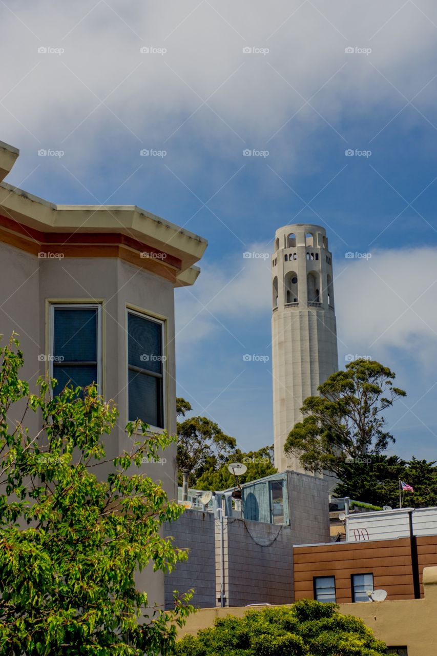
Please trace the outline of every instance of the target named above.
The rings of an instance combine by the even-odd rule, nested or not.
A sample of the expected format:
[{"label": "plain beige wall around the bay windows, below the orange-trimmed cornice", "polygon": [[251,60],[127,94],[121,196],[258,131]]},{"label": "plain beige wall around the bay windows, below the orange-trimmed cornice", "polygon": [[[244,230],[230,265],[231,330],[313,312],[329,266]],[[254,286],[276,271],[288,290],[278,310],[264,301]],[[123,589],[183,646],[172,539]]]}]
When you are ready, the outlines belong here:
[{"label": "plain beige wall around the bay windows, below the orange-trimmed cornice", "polygon": [[[0,333],[2,344],[12,331],[19,334],[24,352],[22,378],[35,382],[44,375],[49,354],[48,300],[103,301],[103,388],[107,399],[119,409],[118,427],[107,438],[108,456],[130,447],[127,423],[127,323],[126,307],[159,316],[167,332],[167,426],[176,432],[175,408],[175,317],[173,283],[118,258],[39,259],[35,255],[0,243]],[[17,417],[9,417],[11,421]],[[29,426],[37,430],[36,416],[29,413]],[[145,464],[142,472],[161,480],[171,499],[177,498],[176,447],[164,454],[165,464]],[[103,470],[102,470],[103,474]],[[150,592],[150,600],[164,602],[163,575],[147,570],[138,574],[138,584]]]}]

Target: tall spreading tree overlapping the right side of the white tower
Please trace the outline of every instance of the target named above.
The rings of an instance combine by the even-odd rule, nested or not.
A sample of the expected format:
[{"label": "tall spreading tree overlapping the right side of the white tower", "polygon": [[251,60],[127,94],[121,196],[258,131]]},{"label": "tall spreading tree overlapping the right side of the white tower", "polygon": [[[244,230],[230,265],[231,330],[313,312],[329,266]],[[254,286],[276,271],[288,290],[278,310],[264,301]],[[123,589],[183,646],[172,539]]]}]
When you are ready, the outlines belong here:
[{"label": "tall spreading tree overlapping the right side of the white tower", "polygon": [[395,374],[379,362],[358,359],[337,371],[302,406],[304,420],[295,424],[285,453],[297,455],[305,470],[341,477],[344,463],[377,456],[394,438],[382,415],[406,392],[394,387]]}]

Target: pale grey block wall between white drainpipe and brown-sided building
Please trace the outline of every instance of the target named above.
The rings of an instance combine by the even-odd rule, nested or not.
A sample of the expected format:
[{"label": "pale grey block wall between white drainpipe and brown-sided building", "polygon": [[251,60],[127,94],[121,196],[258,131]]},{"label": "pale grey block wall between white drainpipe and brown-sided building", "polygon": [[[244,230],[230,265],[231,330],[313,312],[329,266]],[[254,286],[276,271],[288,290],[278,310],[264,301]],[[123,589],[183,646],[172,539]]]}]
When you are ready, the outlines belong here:
[{"label": "pale grey block wall between white drainpipe and brown-sided building", "polygon": [[[217,598],[220,598],[219,554],[217,521]],[[228,606],[293,601],[293,548],[289,526],[225,518],[224,596]]]}]

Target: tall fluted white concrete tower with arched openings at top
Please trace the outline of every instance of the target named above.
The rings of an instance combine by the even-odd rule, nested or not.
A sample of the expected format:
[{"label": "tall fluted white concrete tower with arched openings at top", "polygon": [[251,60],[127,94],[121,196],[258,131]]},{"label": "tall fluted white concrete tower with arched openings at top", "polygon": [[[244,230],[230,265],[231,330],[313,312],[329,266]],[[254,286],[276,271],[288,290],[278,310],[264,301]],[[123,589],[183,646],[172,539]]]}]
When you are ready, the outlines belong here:
[{"label": "tall fluted white concrete tower with arched openings at top", "polygon": [[283,447],[307,396],[339,368],[332,258],[312,224],[276,230],[272,255],[272,374],[275,466],[302,472]]}]

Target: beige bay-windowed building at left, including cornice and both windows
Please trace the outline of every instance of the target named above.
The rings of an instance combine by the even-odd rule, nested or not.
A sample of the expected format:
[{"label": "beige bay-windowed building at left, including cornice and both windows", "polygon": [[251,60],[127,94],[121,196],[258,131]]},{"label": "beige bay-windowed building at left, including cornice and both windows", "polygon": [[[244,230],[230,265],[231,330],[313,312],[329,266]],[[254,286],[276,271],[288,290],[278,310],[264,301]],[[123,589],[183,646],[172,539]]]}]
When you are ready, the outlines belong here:
[{"label": "beige bay-windowed building at left, including cornice and both windows", "polygon": [[[55,392],[96,382],[119,410],[108,459],[130,450],[129,420],[175,434],[174,289],[196,281],[207,242],[134,205],[55,205],[12,187],[16,157],[0,142],[0,333],[18,333],[22,379],[48,373]],[[141,471],[177,499],[175,445]],[[142,575],[163,604],[163,577]]]}]

